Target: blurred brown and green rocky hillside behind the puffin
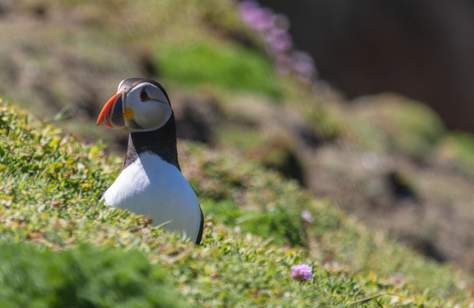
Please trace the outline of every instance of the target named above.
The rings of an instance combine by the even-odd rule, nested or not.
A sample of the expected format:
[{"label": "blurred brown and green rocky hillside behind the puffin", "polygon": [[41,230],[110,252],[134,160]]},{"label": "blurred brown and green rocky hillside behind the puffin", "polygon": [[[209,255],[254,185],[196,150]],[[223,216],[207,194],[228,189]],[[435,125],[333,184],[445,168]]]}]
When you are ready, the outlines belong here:
[{"label": "blurred brown and green rocky hillside behind the puffin", "polygon": [[[272,51],[273,36],[242,11],[230,0],[2,2],[0,95],[121,152],[126,134],[93,124],[100,103],[126,77],[160,80],[180,138],[237,152],[371,229],[474,271],[474,137],[404,97],[351,101],[301,80],[292,70],[307,70],[308,59],[286,61],[305,59],[291,44]],[[288,27],[263,12],[250,11],[260,16],[253,26]]]}]

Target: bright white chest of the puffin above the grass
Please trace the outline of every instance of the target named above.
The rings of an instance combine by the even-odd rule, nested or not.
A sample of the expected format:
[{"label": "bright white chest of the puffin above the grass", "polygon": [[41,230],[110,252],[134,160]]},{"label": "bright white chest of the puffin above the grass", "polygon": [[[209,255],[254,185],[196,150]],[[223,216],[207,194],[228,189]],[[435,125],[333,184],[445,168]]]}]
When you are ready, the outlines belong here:
[{"label": "bright white chest of the puffin above the grass", "polygon": [[122,170],[105,192],[107,205],[153,219],[155,225],[196,240],[201,209],[196,194],[181,172],[153,153],[142,153]]}]

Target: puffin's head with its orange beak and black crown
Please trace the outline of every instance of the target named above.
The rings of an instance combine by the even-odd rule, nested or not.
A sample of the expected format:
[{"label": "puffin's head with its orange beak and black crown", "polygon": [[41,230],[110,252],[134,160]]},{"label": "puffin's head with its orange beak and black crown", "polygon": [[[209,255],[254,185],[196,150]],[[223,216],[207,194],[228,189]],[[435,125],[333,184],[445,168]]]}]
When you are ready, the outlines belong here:
[{"label": "puffin's head with its orange beak and black crown", "polygon": [[97,125],[147,132],[164,126],[172,115],[168,95],[158,82],[128,78],[120,82],[117,93],[102,107]]}]

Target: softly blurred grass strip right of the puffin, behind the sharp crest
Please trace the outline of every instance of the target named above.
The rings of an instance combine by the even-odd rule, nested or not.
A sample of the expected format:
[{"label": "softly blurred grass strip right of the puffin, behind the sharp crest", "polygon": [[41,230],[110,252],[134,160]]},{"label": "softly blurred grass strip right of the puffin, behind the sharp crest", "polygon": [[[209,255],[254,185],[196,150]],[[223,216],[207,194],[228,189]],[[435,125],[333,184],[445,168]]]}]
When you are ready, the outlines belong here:
[{"label": "softly blurred grass strip right of the puffin, behind the sharp crest", "polygon": [[[463,281],[449,267],[428,262],[383,234],[374,234],[293,182],[253,164],[239,162],[236,168],[238,159],[230,154],[191,152],[184,153],[185,161],[203,167],[191,170],[189,177],[201,198],[212,200],[204,202],[204,207],[219,222],[278,244],[306,247],[320,262],[334,261],[362,277],[375,274],[389,281],[400,275],[407,283],[405,291],[449,296]],[[311,213],[312,223],[303,222],[303,211]]]}]

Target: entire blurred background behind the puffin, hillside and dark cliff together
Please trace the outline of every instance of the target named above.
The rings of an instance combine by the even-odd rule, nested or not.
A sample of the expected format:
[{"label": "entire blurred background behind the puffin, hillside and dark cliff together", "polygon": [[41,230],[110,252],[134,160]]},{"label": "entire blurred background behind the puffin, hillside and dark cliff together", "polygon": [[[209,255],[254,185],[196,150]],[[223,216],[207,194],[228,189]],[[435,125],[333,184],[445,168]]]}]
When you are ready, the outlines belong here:
[{"label": "entire blurred background behind the puffin, hillside and dark cliff together", "polygon": [[473,37],[470,0],[0,0],[0,95],[121,153],[98,110],[157,79],[180,138],[474,271]]}]

